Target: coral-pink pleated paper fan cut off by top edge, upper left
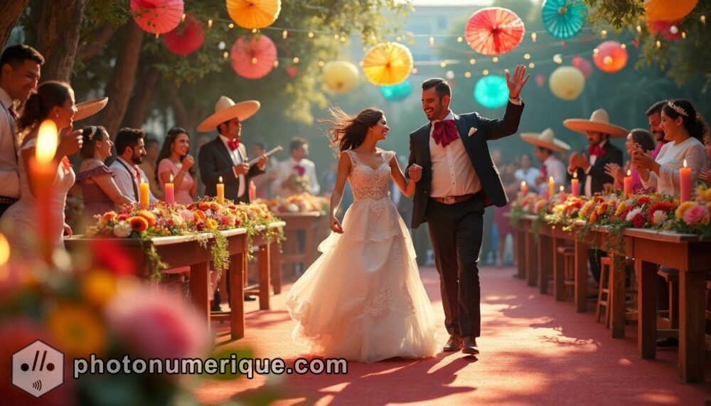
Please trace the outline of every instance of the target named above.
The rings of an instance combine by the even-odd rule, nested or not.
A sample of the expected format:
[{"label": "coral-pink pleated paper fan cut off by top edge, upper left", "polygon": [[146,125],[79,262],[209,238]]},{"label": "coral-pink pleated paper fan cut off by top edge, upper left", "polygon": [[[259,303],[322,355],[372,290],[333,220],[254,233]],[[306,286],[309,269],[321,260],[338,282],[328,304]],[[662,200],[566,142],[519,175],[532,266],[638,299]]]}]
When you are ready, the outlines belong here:
[{"label": "coral-pink pleated paper fan cut off by top edge, upper left", "polygon": [[131,0],[131,13],[144,31],[163,34],[183,18],[183,0]]}]

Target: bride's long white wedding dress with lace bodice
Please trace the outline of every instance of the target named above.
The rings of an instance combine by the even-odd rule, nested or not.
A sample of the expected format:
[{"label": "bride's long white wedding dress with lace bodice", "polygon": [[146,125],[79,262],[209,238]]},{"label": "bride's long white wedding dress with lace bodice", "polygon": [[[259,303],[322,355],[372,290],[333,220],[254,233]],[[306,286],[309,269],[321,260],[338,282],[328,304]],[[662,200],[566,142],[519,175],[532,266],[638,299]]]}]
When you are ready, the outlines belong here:
[{"label": "bride's long white wedding dress with lace bodice", "polygon": [[346,151],[355,201],[343,234],[321,242],[323,254],[289,291],[287,309],[298,322],[292,337],[312,353],[366,363],[437,353],[415,248],[387,193],[395,153],[382,152],[383,164],[373,169]]}]

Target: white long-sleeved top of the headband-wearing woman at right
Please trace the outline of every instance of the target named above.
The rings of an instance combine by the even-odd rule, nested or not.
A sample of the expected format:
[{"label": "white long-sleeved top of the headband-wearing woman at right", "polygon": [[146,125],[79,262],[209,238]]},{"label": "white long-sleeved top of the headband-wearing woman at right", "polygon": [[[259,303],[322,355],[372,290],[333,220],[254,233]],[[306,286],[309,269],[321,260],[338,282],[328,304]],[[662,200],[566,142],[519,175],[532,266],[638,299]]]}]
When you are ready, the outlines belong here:
[{"label": "white long-sleeved top of the headband-wearing woman at right", "polygon": [[675,141],[664,144],[656,158],[659,164],[659,176],[649,171],[649,178],[646,182],[642,181],[642,184],[646,188],[656,188],[657,193],[680,196],[679,169],[683,166],[684,159],[686,159],[686,166],[691,168],[693,187],[706,164],[704,144],[694,137],[689,137],[678,145]]}]

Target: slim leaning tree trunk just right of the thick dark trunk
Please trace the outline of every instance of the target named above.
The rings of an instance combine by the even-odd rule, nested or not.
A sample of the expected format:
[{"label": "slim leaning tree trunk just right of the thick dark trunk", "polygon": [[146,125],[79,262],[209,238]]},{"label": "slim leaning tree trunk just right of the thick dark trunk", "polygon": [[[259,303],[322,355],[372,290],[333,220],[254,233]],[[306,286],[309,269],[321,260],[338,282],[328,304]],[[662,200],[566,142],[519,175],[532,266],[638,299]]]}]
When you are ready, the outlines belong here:
[{"label": "slim leaning tree trunk just right of the thick dark trunk", "polygon": [[136,85],[136,73],[138,72],[143,34],[144,32],[133,20],[129,21],[119,33],[121,36],[119,55],[116,58],[116,65],[105,92],[105,96],[109,97],[109,103],[100,114],[97,114],[97,118],[92,120],[92,122],[106,127],[112,137],[119,130],[119,125],[124,119],[124,114],[126,114],[134,85]]}]

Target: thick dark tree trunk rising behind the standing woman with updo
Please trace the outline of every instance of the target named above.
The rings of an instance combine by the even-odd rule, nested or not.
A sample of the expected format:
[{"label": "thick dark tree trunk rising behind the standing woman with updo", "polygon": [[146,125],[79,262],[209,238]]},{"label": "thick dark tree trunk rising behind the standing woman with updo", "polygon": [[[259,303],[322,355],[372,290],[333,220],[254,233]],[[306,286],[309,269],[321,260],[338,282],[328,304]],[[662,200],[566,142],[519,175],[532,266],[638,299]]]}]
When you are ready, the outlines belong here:
[{"label": "thick dark tree trunk rising behind the standing woman with updo", "polygon": [[43,81],[71,80],[87,1],[53,0],[42,3],[37,28],[37,50],[45,58]]}]

